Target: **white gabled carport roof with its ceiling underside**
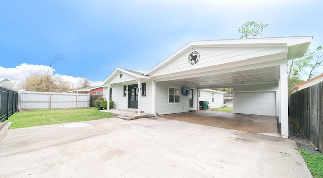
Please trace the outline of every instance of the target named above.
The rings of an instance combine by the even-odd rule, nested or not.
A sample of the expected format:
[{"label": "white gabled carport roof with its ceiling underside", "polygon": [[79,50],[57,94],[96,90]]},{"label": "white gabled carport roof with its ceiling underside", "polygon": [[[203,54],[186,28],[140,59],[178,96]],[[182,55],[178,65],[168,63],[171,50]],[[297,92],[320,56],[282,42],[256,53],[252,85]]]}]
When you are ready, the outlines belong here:
[{"label": "white gabled carport roof with its ceiling underside", "polygon": [[[150,76],[156,82],[172,81],[198,88],[222,88],[233,87],[235,85],[277,83],[279,81],[280,65],[287,64],[288,59],[302,57],[312,38],[313,36],[295,36],[192,41],[150,69],[145,75]],[[187,58],[190,52],[206,48],[244,48],[246,52],[240,52],[240,56],[245,58],[239,58],[238,55],[234,56],[234,60],[231,60],[233,58],[231,57],[231,61],[223,60],[222,63],[200,65],[201,67],[199,66],[194,70],[184,69],[184,65],[179,63],[175,67],[176,69],[173,68],[172,70],[170,68],[168,71],[165,70],[178,58]],[[258,51],[255,52],[255,50]],[[255,53],[257,55],[254,55]],[[250,57],[247,55],[250,55]],[[192,65],[188,67],[192,68]]]}]

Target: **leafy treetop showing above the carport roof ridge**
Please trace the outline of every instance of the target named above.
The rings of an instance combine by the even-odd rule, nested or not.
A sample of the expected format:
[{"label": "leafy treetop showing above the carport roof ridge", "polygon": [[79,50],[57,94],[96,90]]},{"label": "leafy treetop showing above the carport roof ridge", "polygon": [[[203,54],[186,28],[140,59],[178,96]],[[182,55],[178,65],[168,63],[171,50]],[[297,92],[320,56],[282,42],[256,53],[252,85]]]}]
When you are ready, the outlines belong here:
[{"label": "leafy treetop showing above the carport roof ridge", "polygon": [[263,29],[268,25],[269,24],[263,24],[261,21],[248,21],[238,29],[238,32],[241,34],[240,39],[261,36]]}]

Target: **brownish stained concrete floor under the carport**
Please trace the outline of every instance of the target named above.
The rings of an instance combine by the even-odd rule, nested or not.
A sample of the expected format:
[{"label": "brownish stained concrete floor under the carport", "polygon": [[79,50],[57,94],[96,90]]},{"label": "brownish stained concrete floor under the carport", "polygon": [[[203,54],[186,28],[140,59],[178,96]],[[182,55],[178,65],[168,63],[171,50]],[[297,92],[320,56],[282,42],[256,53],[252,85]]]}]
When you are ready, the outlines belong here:
[{"label": "brownish stained concrete floor under the carport", "polygon": [[238,131],[281,136],[277,132],[276,116],[233,114],[210,110],[161,115],[160,118],[220,127]]}]

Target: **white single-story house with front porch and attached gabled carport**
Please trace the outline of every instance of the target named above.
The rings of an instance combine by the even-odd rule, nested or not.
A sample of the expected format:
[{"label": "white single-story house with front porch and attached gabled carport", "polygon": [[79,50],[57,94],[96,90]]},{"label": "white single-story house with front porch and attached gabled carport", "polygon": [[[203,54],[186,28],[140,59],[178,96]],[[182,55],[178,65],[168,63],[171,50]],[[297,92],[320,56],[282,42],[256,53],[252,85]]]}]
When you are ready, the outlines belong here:
[{"label": "white single-story house with front porch and attached gabled carport", "polygon": [[233,88],[234,113],[277,116],[288,138],[287,64],[312,38],[192,41],[146,73],[117,68],[103,93],[115,109],[161,115],[199,110],[200,89]]}]

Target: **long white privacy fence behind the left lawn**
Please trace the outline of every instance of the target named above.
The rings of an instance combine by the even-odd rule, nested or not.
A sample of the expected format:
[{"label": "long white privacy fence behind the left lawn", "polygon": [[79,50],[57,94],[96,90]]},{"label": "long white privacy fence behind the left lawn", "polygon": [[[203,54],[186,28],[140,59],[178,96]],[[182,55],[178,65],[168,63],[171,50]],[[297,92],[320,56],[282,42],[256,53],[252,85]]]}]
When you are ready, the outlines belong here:
[{"label": "long white privacy fence behind the left lawn", "polygon": [[19,92],[18,108],[28,109],[68,109],[90,106],[90,94]]}]

